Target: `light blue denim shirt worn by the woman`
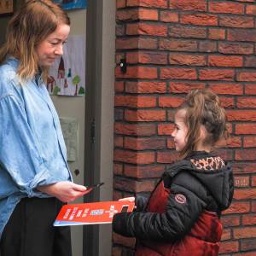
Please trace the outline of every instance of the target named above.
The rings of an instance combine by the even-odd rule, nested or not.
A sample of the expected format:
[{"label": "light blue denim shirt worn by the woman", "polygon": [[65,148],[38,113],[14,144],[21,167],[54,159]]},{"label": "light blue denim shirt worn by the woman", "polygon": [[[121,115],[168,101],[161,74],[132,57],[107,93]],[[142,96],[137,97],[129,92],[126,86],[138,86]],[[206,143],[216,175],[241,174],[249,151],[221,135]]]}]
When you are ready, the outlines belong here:
[{"label": "light blue denim shirt worn by the woman", "polygon": [[36,188],[73,181],[61,125],[41,77],[20,84],[19,61],[0,66],[0,237],[24,197],[49,197]]}]

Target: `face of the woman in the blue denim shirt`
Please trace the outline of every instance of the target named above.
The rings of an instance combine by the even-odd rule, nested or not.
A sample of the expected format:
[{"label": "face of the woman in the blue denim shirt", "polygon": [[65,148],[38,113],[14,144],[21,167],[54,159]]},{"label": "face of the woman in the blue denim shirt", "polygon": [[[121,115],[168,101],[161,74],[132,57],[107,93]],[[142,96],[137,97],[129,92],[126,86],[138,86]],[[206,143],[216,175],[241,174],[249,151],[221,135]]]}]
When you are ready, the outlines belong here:
[{"label": "face of the woman in the blue denim shirt", "polygon": [[55,58],[63,55],[63,44],[66,43],[69,31],[70,26],[59,24],[54,32],[37,45],[36,53],[40,67],[51,66]]}]

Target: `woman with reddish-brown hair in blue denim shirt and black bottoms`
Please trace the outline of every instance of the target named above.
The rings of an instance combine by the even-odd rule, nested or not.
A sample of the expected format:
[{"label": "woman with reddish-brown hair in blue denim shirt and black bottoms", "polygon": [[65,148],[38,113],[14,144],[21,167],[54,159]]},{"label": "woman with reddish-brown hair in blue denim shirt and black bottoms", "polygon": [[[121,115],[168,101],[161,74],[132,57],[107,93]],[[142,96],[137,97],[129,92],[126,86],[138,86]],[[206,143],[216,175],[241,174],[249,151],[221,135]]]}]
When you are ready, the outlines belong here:
[{"label": "woman with reddish-brown hair in blue denim shirt and black bottoms", "polygon": [[63,202],[88,193],[73,183],[61,126],[44,81],[70,31],[49,0],[26,1],[0,49],[0,252],[72,255],[68,227],[54,228]]}]

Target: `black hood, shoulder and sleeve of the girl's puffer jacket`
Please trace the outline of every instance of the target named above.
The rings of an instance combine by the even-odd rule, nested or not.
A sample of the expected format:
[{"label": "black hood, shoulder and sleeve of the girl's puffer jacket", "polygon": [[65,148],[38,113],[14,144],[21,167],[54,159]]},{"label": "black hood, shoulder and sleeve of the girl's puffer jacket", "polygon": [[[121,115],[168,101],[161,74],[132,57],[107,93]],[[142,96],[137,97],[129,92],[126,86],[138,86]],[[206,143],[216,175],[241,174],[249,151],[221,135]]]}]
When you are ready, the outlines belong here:
[{"label": "black hood, shoulder and sleeve of the girl's puffer jacket", "polygon": [[196,152],[189,159],[173,164],[160,183],[172,192],[163,202],[165,211],[148,212],[148,202],[138,197],[136,212],[114,215],[115,232],[141,241],[178,241],[189,233],[202,212],[217,212],[220,216],[233,197],[230,164],[206,152]]}]

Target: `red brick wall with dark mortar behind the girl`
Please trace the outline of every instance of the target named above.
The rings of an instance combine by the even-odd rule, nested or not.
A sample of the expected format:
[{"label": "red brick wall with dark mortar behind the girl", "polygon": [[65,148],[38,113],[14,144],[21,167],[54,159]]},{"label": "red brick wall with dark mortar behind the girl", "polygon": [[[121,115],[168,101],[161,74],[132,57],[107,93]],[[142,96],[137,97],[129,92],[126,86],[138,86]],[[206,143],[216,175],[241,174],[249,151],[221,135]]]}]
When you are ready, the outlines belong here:
[{"label": "red brick wall with dark mortar behind the girl", "polygon": [[[236,175],[224,212],[221,255],[256,255],[256,3],[254,0],[117,0],[114,194],[154,188],[177,159],[173,110],[193,88],[209,87],[228,113],[221,149]],[[119,61],[127,61],[122,73]],[[113,255],[134,240],[113,234]]]}]

